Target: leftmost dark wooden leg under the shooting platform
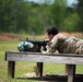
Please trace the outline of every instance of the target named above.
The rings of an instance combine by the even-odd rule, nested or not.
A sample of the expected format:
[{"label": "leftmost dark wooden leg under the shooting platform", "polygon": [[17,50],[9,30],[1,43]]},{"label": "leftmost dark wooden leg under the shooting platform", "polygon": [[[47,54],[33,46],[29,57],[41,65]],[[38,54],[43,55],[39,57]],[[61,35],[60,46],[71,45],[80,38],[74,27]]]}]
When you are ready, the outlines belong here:
[{"label": "leftmost dark wooden leg under the shooting platform", "polygon": [[15,61],[8,61],[8,77],[14,78]]}]

